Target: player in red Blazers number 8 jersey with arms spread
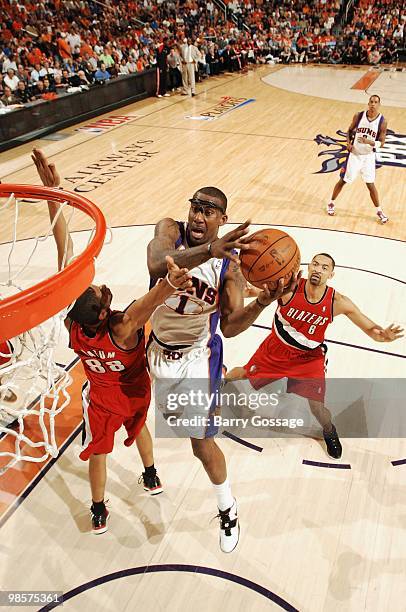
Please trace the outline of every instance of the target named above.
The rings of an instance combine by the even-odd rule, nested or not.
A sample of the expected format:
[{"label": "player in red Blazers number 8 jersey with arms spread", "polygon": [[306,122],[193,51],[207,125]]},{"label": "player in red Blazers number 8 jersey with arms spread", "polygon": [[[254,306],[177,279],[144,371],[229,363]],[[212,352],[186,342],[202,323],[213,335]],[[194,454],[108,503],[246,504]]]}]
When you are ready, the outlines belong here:
[{"label": "player in red Blazers number 8 jersey with arms spread", "polygon": [[345,314],[377,342],[401,338],[403,329],[395,325],[383,329],[348,297],[328,287],[334,267],[334,259],[327,253],[313,257],[308,266],[309,277],[302,278],[295,291],[278,300],[270,335],[248,363],[231,370],[225,380],[248,378],[252,386],[259,389],[287,377],[288,392],[308,399],[310,410],[323,427],[327,452],[339,459],[341,443],[330,411],[324,405],[327,326],[334,317]]}]

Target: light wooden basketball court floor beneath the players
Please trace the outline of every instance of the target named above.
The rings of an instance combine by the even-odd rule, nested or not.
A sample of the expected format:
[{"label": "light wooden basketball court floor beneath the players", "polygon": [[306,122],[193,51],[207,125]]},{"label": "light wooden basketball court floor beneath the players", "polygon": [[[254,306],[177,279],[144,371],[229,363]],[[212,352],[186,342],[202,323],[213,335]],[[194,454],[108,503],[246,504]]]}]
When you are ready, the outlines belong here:
[{"label": "light wooden basketball court floor beneath the players", "polygon": [[[196,98],[148,99],[2,153],[0,179],[38,183],[30,159],[37,146],[57,165],[65,189],[100,206],[112,240],[98,259],[95,282],[110,286],[118,308],[147,289],[146,245],[154,224],[165,216],[185,219],[194,191],[214,185],[229,198],[231,224],[251,219],[253,230],[288,231],[304,264],[314,253],[331,253],[337,290],[377,323],[405,325],[405,84],[406,73],[367,68],[267,66],[213,78],[199,86]],[[390,218],[384,226],[360,180],[343,190],[335,217],[325,213],[344,163],[342,132],[371,93],[381,95],[391,130],[376,180]],[[5,211],[7,223],[0,227],[2,276],[9,217]],[[75,213],[75,252],[84,248],[89,228]],[[25,203],[18,257],[46,230],[46,207]],[[52,274],[55,266],[48,239],[39,244],[24,283]],[[225,340],[229,368],[248,360],[272,314],[267,309],[256,326]],[[405,339],[378,345],[340,317],[328,340],[330,377],[391,378],[394,388],[406,377]],[[189,441],[155,441],[165,491],[148,497],[138,484],[137,452],[124,448],[120,434],[109,458],[109,531],[96,538],[87,465],[78,459],[83,374],[66,337],[56,356],[73,378],[71,403],[57,426],[61,454],[44,466],[18,465],[0,476],[0,590],[62,591],[66,610],[103,612],[404,610],[401,427],[391,438],[344,439],[335,464],[317,427],[314,436],[254,438],[248,445],[222,438],[241,520],[240,543],[230,555],[219,550],[211,485]],[[153,430],[153,407],[148,423]]]}]

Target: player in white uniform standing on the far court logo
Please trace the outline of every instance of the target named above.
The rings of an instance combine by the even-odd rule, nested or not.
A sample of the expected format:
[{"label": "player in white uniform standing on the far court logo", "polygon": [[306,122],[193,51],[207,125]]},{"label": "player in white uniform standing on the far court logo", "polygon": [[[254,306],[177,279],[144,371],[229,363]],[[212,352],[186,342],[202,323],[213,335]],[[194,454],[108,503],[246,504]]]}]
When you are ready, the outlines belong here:
[{"label": "player in white uniform standing on the far court logo", "polygon": [[333,195],[327,205],[327,214],[335,214],[335,200],[346,183],[352,183],[361,174],[369,189],[369,195],[376,208],[381,223],[387,223],[388,217],[379,203],[375,187],[376,150],[385,144],[387,122],[379,112],[381,99],[374,95],[369,98],[368,110],[354,115],[347,133],[348,157],[342,176],[333,189]]}]

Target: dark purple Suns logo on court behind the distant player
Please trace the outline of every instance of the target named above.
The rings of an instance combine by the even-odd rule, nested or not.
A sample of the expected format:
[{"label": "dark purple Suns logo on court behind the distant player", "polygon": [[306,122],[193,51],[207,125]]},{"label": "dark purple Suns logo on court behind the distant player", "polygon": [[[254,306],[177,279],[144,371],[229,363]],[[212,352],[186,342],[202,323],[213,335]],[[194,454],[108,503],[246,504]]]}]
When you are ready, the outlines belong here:
[{"label": "dark purple Suns logo on court behind the distant player", "polygon": [[[325,157],[321,169],[314,174],[335,172],[344,167],[347,159],[347,133],[342,130],[336,132],[337,138],[317,134],[314,139],[318,145],[326,145],[328,148],[320,151],[317,157]],[[406,135],[397,134],[393,130],[386,133],[385,145],[376,153],[376,167],[398,166],[406,168]]]}]

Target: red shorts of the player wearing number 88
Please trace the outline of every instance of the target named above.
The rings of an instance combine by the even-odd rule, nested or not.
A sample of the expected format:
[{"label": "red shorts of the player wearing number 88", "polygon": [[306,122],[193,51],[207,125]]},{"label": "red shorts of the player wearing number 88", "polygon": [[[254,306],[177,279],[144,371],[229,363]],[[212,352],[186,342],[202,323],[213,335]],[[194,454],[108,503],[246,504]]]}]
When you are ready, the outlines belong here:
[{"label": "red shorts of the player wearing number 88", "polygon": [[144,384],[127,388],[125,394],[117,388],[96,390],[92,387],[88,392],[88,387],[86,384],[82,393],[83,434],[79,457],[83,461],[91,455],[111,453],[114,435],[122,425],[127,430],[124,444],[131,446],[145,424],[151,400],[149,377]]}]

